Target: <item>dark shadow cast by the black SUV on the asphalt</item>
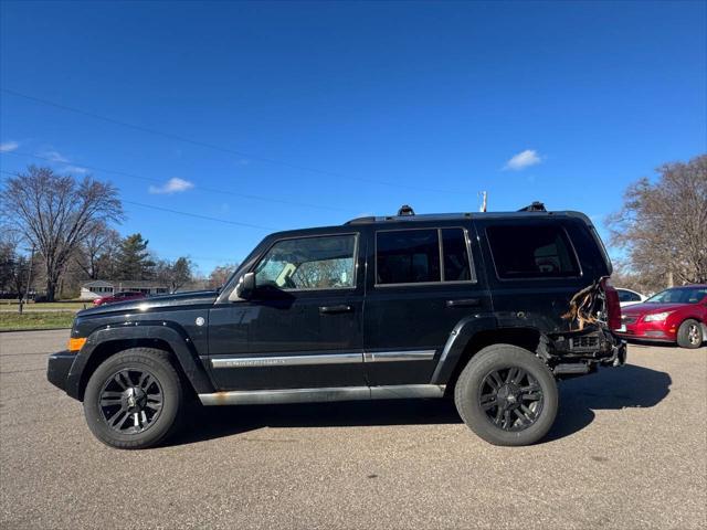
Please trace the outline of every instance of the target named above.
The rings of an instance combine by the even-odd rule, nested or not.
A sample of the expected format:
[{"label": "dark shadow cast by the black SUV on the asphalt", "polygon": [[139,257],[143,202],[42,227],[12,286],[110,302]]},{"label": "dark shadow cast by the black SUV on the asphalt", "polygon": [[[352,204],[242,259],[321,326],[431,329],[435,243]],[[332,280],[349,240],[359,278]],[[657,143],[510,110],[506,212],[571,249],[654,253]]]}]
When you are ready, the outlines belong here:
[{"label": "dark shadow cast by the black SUV on the asphalt", "polygon": [[[541,443],[569,436],[594,420],[595,410],[650,407],[669,392],[665,372],[625,365],[562,381],[560,411]],[[352,427],[462,423],[452,400],[391,400],[289,405],[200,406],[187,413],[168,445],[191,444],[262,427]]]}]

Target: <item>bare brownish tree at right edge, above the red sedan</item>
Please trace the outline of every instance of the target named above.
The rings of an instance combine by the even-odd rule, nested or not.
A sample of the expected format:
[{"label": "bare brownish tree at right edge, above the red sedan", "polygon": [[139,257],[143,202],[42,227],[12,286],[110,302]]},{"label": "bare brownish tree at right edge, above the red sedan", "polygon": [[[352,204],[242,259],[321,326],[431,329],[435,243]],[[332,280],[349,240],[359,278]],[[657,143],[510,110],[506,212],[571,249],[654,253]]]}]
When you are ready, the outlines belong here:
[{"label": "bare brownish tree at right edge, above the red sedan", "polygon": [[656,171],[655,183],[631,184],[608,219],[611,243],[625,252],[622,268],[644,278],[645,290],[707,283],[707,155]]}]

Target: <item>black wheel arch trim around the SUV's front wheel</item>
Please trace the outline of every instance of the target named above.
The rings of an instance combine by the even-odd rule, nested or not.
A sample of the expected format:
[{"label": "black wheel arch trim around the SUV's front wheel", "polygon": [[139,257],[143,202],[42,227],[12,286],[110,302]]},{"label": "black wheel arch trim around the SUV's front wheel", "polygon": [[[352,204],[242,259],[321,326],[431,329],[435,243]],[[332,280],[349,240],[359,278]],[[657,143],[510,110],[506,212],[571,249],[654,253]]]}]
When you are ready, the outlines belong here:
[{"label": "black wheel arch trim around the SUV's front wheel", "polygon": [[102,328],[88,336],[72,364],[66,380],[66,393],[83,401],[88,379],[106,359],[129,348],[155,348],[170,356],[186,386],[194,393],[214,392],[213,384],[199,359],[190,339],[169,326],[130,326]]}]

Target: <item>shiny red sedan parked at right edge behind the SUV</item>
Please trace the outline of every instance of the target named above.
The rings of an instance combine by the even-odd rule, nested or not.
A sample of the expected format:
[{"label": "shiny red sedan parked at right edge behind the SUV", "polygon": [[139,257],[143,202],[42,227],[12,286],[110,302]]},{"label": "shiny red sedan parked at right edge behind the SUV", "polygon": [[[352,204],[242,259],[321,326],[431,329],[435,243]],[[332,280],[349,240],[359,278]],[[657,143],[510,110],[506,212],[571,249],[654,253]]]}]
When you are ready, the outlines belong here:
[{"label": "shiny red sedan parked at right edge behind the SUV", "polygon": [[621,312],[616,333],[624,339],[699,348],[707,339],[707,285],[672,287]]}]

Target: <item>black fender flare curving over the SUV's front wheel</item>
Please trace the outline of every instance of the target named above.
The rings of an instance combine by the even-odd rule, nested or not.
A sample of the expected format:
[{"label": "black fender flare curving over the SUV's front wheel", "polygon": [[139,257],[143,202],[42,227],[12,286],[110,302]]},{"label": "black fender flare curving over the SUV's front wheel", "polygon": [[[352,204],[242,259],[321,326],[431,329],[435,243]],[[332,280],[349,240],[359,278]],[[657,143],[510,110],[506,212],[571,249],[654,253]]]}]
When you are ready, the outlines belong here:
[{"label": "black fender flare curving over the SUV's front wheel", "polygon": [[163,321],[138,321],[130,326],[106,326],[92,331],[68,371],[66,393],[76,400],[81,399],[81,382],[84,370],[99,346],[109,341],[133,339],[163,340],[175,352],[179,365],[194,391],[199,394],[215,392],[191,339],[180,327]]}]

